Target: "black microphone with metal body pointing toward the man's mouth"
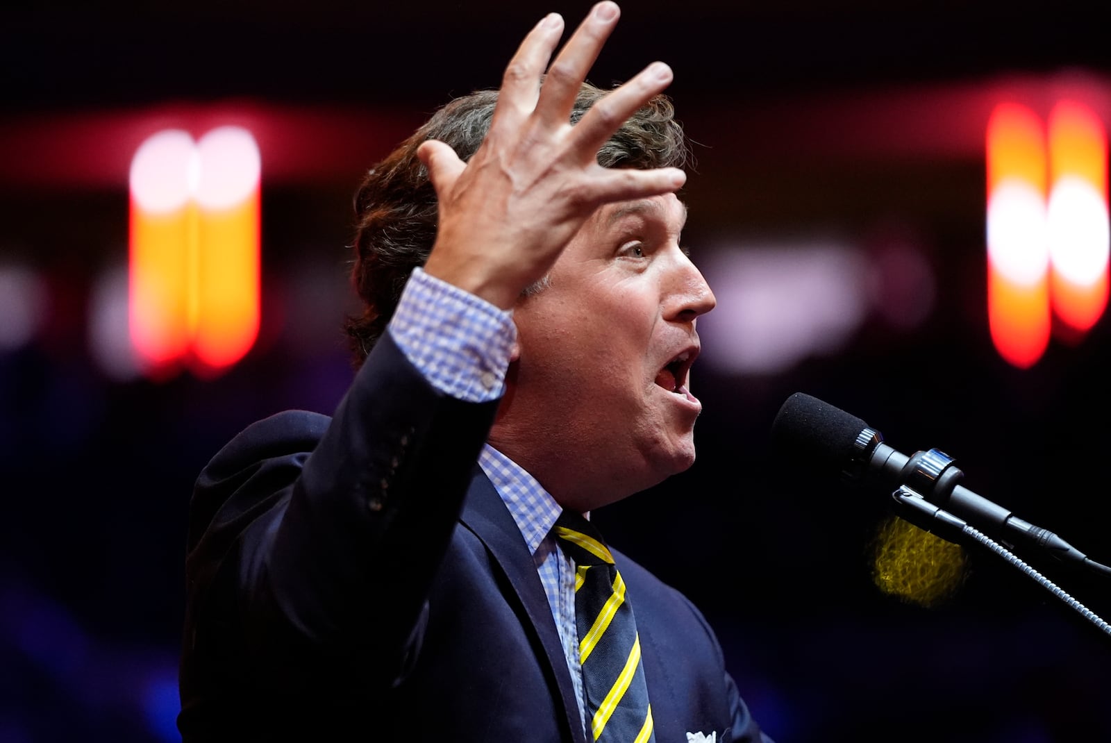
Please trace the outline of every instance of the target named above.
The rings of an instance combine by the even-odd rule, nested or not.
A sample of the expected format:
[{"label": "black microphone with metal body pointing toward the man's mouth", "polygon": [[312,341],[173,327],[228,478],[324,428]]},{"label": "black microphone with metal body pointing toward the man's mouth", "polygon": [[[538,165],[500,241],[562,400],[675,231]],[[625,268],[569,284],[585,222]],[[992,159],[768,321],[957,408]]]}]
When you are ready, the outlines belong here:
[{"label": "black microphone with metal body pointing toward the man's mouth", "polygon": [[[964,473],[944,452],[931,449],[908,456],[883,443],[883,434],[863,420],[818,398],[802,392],[788,398],[772,423],[771,439],[780,458],[801,463],[802,469],[827,478],[839,474],[850,485],[885,489],[897,503],[912,506],[919,519],[925,519],[930,525],[922,528],[928,531],[952,532],[964,519],[984,533],[1015,538],[1058,560],[1098,565],[1053,532],[958,484]],[[907,489],[932,508],[907,499]],[[908,520],[915,522],[913,514]]]}]

